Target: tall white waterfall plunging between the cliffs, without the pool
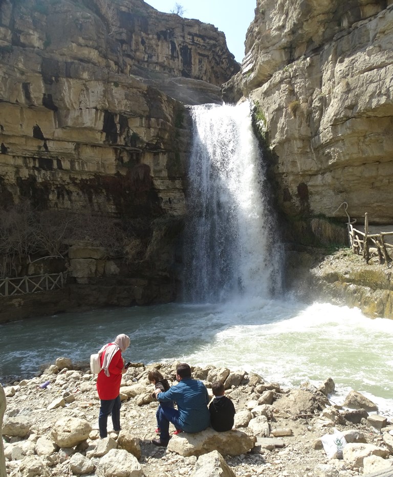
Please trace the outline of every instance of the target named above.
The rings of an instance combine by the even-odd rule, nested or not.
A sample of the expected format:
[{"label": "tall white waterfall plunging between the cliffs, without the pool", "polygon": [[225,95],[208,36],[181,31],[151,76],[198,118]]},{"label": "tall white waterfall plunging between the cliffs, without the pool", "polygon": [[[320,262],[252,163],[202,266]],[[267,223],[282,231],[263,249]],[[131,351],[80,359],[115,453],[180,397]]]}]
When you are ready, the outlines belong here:
[{"label": "tall white waterfall plunging between the cliffs, without the pool", "polygon": [[184,299],[268,297],[280,287],[280,246],[250,105],[193,106],[184,243]]}]

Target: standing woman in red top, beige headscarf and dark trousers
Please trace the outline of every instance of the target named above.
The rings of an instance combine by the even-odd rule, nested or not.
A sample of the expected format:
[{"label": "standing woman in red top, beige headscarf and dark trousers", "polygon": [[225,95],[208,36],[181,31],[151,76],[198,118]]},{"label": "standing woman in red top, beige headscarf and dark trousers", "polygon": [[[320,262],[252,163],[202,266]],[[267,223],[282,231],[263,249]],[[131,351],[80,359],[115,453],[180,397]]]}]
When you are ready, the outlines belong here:
[{"label": "standing woman in red top, beige headscarf and dark trousers", "polygon": [[113,430],[120,431],[120,383],[126,372],[121,353],[129,346],[129,337],[119,334],[113,343],[108,343],[99,350],[102,370],[97,377],[97,392],[101,401],[98,415],[100,438],[106,438],[108,415],[112,414]]}]

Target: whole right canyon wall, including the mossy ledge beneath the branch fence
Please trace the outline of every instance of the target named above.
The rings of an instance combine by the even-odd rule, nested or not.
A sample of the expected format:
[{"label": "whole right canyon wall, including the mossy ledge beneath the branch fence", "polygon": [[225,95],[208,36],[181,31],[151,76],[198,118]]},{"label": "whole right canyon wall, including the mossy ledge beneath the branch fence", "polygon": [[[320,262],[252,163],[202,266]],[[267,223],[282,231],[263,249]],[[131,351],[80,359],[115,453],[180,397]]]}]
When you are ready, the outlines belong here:
[{"label": "whole right canyon wall, including the mossy ledge beneath the branch fence", "polygon": [[393,317],[386,264],[310,248],[348,244],[343,202],[355,227],[368,212],[375,232],[393,231],[393,1],[257,0],[241,72],[223,90],[254,105],[287,285]]}]

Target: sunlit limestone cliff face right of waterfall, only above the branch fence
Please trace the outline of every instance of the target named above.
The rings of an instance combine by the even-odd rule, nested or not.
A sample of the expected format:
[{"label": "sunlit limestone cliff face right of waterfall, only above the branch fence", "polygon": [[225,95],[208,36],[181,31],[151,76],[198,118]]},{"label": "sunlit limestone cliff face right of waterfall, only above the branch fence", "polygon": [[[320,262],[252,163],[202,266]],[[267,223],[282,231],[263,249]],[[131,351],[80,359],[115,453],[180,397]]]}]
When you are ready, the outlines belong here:
[{"label": "sunlit limestone cliff face right of waterfall, only above the branch fence", "polygon": [[258,0],[255,13],[225,90],[258,103],[281,209],[333,216],[345,201],[392,224],[392,2]]}]

